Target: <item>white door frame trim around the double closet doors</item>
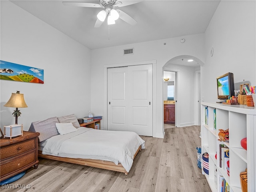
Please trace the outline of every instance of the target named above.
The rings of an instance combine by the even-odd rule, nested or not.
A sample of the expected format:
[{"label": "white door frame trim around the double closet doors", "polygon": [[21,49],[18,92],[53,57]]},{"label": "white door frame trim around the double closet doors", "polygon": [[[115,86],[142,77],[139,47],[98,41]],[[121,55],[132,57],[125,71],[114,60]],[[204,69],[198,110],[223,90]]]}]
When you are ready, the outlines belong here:
[{"label": "white door frame trim around the double closet doors", "polygon": [[140,61],[140,62],[130,62],[130,63],[118,63],[118,64],[108,64],[104,65],[104,127],[108,130],[108,68],[114,67],[125,67],[125,66],[134,66],[134,65],[146,65],[152,64],[152,74],[153,74],[153,95],[152,95],[152,108],[153,108],[153,118],[152,118],[152,129],[153,137],[162,138],[162,135],[156,133],[156,60],[149,61]]}]

